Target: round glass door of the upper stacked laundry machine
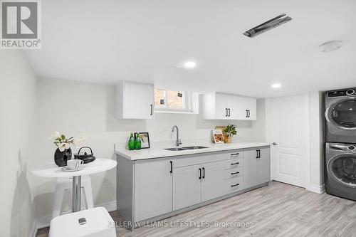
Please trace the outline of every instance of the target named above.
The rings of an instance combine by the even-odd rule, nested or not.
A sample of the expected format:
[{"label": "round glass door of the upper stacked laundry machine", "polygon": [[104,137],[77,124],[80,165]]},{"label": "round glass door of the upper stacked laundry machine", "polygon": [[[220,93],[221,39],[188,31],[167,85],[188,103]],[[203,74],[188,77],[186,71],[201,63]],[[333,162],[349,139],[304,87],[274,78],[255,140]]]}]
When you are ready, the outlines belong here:
[{"label": "round glass door of the upper stacked laundry machine", "polygon": [[330,107],[329,118],[338,127],[356,129],[356,99],[340,100]]}]

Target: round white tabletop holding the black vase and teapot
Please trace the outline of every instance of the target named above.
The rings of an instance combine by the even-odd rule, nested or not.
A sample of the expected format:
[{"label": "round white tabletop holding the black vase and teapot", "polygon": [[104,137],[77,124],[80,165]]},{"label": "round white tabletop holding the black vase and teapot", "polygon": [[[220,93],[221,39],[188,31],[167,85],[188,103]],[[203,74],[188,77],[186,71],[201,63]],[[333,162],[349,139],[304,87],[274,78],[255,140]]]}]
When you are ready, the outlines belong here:
[{"label": "round white tabletop holding the black vase and teapot", "polygon": [[105,172],[116,167],[117,162],[112,159],[95,159],[95,161],[88,164],[82,164],[83,169],[75,172],[64,172],[63,167],[58,167],[54,162],[47,162],[42,164],[37,169],[31,170],[33,175],[38,177],[59,178],[59,177],[73,177],[85,174],[95,174]]}]

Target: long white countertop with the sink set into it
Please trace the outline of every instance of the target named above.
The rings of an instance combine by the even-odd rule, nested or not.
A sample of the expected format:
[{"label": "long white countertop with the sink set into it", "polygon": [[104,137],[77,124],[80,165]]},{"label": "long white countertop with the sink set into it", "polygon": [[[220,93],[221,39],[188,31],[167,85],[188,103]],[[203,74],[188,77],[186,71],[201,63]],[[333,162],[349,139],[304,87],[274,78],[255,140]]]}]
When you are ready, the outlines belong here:
[{"label": "long white countertop with the sink set into it", "polygon": [[[209,148],[189,149],[183,151],[169,151],[167,149],[164,149],[164,148],[172,148],[174,146],[139,149],[133,151],[127,150],[125,148],[115,148],[115,153],[133,161],[133,160],[152,159],[152,158],[159,158],[159,157],[175,157],[175,156],[187,155],[187,154],[200,154],[206,152],[221,152],[230,149],[264,147],[269,145],[270,144],[266,142],[236,142],[231,144],[206,143],[206,144],[194,144],[194,146],[209,147]],[[189,146],[192,146],[192,144],[183,144],[179,147],[189,147]]]}]

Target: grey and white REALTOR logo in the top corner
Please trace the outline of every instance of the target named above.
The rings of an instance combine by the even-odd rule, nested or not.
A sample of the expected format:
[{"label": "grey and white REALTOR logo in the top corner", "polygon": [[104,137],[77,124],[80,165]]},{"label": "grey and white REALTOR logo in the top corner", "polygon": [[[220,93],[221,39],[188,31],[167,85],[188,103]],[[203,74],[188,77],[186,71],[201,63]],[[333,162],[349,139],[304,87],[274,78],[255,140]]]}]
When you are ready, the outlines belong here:
[{"label": "grey and white REALTOR logo in the top corner", "polygon": [[1,1],[1,49],[38,49],[40,2]]}]

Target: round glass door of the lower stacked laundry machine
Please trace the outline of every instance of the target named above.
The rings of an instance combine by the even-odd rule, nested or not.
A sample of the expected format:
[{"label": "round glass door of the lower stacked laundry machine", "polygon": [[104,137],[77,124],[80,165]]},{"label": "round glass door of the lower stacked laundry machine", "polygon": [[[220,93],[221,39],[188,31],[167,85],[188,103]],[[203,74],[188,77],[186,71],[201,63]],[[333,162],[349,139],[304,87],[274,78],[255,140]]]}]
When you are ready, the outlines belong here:
[{"label": "round glass door of the lower stacked laundry machine", "polygon": [[328,173],[339,183],[356,188],[356,154],[340,154],[330,159]]}]

